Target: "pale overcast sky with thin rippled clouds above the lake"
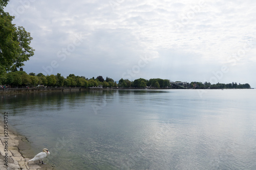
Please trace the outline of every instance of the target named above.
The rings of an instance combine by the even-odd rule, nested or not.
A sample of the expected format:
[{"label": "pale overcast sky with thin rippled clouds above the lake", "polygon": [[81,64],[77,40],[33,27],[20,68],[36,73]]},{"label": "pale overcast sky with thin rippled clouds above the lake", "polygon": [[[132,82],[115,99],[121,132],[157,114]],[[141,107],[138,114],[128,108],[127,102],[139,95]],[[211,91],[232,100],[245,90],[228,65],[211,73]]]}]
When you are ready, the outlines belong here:
[{"label": "pale overcast sky with thin rippled clouds above the lake", "polygon": [[31,33],[24,70],[256,87],[256,2],[11,0]]}]

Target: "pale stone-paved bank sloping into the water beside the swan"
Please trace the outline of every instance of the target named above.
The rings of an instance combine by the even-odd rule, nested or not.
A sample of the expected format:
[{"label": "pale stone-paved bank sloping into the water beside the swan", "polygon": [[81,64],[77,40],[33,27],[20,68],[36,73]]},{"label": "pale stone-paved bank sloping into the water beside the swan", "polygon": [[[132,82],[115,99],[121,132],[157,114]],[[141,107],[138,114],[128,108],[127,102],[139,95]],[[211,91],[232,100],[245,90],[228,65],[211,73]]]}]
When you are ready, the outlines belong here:
[{"label": "pale stone-paved bank sloping into the water beside the swan", "polygon": [[[28,139],[8,124],[8,137],[4,134],[4,116],[0,116],[0,169],[55,169],[54,164],[39,164],[29,161],[34,153]],[[6,131],[5,131],[6,132]],[[7,151],[7,148],[8,151]],[[41,151],[38,151],[38,153]],[[6,166],[6,163],[8,166]]]}]

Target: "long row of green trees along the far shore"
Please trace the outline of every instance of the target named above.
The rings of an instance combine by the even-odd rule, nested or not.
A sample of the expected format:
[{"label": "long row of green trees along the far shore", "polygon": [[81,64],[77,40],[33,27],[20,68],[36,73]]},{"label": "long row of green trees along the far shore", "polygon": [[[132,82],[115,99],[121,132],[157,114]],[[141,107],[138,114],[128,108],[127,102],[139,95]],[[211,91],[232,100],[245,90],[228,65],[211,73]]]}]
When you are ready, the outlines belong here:
[{"label": "long row of green trees along the far shore", "polygon": [[170,82],[167,79],[136,79],[130,81],[127,79],[120,79],[118,83],[111,78],[98,76],[96,79],[93,77],[88,79],[84,76],[75,76],[70,74],[67,78],[57,75],[43,75],[42,73],[34,74],[31,72],[27,74],[25,71],[10,71],[0,75],[1,88],[46,88],[46,87],[98,87],[103,88],[193,88],[193,89],[244,89],[251,88],[248,83],[217,83],[211,84],[209,82]]}]

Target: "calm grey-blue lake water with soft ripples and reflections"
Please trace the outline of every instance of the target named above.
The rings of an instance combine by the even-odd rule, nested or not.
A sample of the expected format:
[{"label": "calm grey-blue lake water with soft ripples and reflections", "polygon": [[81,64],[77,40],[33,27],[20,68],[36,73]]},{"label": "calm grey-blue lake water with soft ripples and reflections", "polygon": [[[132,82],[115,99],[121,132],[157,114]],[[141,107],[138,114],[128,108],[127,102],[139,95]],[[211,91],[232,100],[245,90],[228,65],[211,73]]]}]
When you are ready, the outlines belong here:
[{"label": "calm grey-blue lake water with soft ripples and reflections", "polygon": [[8,95],[9,123],[58,169],[256,169],[255,89]]}]

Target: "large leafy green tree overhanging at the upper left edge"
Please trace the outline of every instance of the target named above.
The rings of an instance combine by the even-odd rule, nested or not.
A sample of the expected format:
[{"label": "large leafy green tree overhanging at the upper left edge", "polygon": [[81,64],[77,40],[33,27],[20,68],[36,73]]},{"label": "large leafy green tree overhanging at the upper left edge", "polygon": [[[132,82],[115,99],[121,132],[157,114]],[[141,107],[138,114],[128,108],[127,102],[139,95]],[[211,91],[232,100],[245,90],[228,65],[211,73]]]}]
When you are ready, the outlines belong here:
[{"label": "large leafy green tree overhanging at the upper left edge", "polygon": [[15,27],[14,16],[4,11],[9,0],[0,0],[0,74],[17,70],[34,55],[33,39],[23,27]]}]

